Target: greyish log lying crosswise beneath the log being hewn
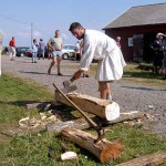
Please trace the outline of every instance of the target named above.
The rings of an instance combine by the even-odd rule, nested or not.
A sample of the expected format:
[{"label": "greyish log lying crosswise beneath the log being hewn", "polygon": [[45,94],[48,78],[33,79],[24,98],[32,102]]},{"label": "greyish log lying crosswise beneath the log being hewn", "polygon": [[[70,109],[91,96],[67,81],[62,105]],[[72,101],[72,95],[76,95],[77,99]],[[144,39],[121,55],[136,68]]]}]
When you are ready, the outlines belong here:
[{"label": "greyish log lying crosswise beneath the log being hewn", "polygon": [[[92,117],[92,121],[94,121],[96,124],[102,123],[102,124],[108,125],[108,124],[121,123],[124,121],[142,118],[143,116],[144,116],[144,114],[142,112],[133,111],[133,112],[121,113],[120,117],[114,121],[101,121],[96,116]],[[84,118],[76,118],[73,121],[62,122],[59,124],[49,124],[49,125],[46,125],[46,131],[61,132],[64,127],[74,127],[77,129],[86,129],[90,127],[90,125]]]}]

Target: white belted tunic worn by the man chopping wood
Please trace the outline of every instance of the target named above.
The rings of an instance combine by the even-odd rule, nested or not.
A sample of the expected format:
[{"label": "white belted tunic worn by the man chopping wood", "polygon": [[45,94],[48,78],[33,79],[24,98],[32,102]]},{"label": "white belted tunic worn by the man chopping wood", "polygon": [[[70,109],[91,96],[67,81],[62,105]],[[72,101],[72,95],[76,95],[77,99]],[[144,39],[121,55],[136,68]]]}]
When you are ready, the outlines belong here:
[{"label": "white belted tunic worn by the man chopping wood", "polygon": [[113,81],[122,77],[126,63],[115,40],[100,31],[85,30],[80,69],[87,71],[93,59],[100,60],[97,81]]}]

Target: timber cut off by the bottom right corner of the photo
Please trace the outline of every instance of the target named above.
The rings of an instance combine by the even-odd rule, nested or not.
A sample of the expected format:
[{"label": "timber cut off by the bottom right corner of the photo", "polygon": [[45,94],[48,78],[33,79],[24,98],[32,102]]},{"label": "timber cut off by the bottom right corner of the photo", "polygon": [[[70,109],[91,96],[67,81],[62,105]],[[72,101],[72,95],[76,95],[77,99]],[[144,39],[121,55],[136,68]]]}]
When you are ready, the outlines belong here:
[{"label": "timber cut off by the bottom right corner of the photo", "polygon": [[166,163],[166,152],[157,152],[118,164],[116,166],[156,166]]}]

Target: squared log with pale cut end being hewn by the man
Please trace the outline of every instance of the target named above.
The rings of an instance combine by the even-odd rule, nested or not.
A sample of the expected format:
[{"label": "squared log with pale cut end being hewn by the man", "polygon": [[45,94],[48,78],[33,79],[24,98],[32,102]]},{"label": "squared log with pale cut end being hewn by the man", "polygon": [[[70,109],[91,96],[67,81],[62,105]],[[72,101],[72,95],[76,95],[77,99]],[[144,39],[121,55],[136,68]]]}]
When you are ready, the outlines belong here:
[{"label": "squared log with pale cut end being hewn by the man", "polygon": [[[93,97],[86,94],[68,93],[68,97],[82,111],[97,115],[98,117],[113,121],[120,116],[120,106],[113,101]],[[59,92],[55,91],[55,100],[60,103],[72,106]]]}]

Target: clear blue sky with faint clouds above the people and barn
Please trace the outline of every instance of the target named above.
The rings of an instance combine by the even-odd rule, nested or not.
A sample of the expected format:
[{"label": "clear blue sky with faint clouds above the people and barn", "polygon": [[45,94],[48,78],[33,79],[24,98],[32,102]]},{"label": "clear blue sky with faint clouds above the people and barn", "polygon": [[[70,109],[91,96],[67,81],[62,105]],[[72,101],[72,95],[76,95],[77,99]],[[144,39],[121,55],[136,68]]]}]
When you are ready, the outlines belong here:
[{"label": "clear blue sky with faint clouds above the people and barn", "polygon": [[0,31],[3,45],[15,37],[18,46],[30,46],[32,22],[37,40],[42,38],[48,42],[59,29],[65,44],[75,44],[76,39],[69,32],[74,21],[101,31],[131,7],[164,2],[166,0],[0,0]]}]

